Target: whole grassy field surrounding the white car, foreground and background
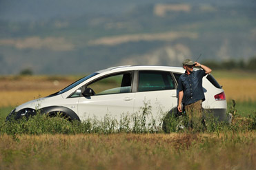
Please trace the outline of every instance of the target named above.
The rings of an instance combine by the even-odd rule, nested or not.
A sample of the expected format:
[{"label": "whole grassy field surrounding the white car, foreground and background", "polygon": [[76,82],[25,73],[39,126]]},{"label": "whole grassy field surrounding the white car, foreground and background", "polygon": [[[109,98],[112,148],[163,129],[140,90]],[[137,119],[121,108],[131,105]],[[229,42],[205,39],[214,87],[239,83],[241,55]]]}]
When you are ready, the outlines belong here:
[{"label": "whole grassy field surrounding the white car, foreground and background", "polygon": [[0,169],[255,169],[256,74],[213,72],[223,85],[231,125],[208,123],[207,130],[111,129],[103,123],[70,123],[35,116],[6,124],[10,110],[47,96],[77,80],[75,76],[0,78]]}]

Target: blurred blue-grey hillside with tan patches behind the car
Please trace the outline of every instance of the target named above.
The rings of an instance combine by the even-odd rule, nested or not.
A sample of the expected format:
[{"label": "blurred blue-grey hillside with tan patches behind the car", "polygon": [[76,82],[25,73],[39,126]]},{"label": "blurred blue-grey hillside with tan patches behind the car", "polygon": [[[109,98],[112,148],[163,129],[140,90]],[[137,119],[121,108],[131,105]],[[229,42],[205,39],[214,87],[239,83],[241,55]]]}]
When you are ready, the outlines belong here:
[{"label": "blurred blue-grey hillside with tan patches behind the car", "polygon": [[256,56],[255,1],[0,1],[0,74]]}]

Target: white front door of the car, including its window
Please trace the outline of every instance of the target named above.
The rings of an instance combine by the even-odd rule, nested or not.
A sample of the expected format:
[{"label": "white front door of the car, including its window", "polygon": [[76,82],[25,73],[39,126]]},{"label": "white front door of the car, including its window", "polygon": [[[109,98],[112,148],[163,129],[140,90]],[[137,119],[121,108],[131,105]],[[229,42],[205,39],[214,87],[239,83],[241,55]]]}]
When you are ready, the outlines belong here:
[{"label": "white front door of the car, including its window", "polygon": [[95,95],[81,96],[78,101],[79,116],[103,118],[106,114],[119,120],[121,114],[132,114],[135,93],[132,93],[132,72],[104,76],[86,85]]}]

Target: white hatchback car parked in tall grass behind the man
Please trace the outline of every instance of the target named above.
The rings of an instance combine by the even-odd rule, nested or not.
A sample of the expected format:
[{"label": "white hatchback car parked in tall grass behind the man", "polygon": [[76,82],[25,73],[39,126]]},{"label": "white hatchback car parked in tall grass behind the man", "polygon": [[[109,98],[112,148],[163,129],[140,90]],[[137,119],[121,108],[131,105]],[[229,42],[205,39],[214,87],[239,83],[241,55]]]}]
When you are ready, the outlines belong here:
[{"label": "white hatchback car parked in tall grass behind the man", "polygon": [[[177,113],[177,82],[185,70],[182,67],[120,66],[100,70],[68,85],[50,96],[31,100],[16,107],[9,116],[15,118],[61,112],[71,120],[88,117],[119,118],[121,114],[133,114],[150,105],[152,115]],[[205,111],[212,112],[219,120],[227,120],[227,103],[224,90],[215,78],[208,74],[203,78],[206,100]]]}]

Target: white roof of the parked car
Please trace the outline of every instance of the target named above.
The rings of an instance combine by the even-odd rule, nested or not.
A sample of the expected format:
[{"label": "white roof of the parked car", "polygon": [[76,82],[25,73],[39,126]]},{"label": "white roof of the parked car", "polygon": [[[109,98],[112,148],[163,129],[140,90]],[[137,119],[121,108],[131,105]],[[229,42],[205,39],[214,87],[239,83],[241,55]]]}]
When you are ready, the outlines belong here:
[{"label": "white roof of the parked car", "polygon": [[97,73],[112,72],[112,71],[130,71],[130,70],[161,70],[169,72],[184,73],[183,67],[170,67],[159,65],[121,65],[117,67],[110,67],[104,70],[99,70]]}]

